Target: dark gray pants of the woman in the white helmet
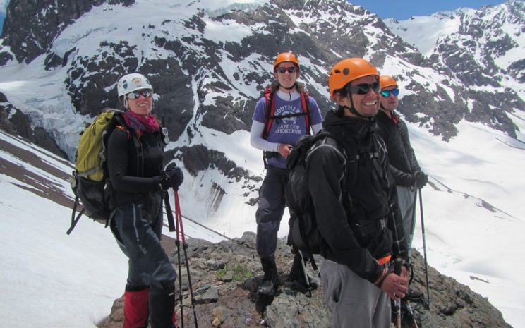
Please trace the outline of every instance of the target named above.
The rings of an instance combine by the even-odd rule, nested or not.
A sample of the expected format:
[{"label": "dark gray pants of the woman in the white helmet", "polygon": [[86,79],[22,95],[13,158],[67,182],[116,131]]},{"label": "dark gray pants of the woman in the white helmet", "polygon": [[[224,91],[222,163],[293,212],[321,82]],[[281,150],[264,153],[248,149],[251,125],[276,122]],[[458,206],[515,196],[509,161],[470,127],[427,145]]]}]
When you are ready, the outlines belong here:
[{"label": "dark gray pants of the woman in the white helmet", "polygon": [[172,291],[177,276],[160,244],[162,201],[160,197],[150,200],[149,205],[117,207],[111,218],[115,238],[129,259],[126,290],[144,286],[151,291]]}]

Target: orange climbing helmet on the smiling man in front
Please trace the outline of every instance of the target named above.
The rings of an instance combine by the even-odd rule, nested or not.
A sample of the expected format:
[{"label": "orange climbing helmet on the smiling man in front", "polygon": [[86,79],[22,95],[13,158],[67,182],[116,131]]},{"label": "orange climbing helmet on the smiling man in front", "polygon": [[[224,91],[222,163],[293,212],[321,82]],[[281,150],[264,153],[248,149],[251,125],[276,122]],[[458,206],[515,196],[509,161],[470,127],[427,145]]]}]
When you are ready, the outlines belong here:
[{"label": "orange climbing helmet on the smiling man in front", "polygon": [[339,61],[330,70],[330,75],[328,76],[330,96],[333,98],[336,90],[344,88],[351,81],[370,75],[379,78],[378,70],[366,59],[348,58]]}]

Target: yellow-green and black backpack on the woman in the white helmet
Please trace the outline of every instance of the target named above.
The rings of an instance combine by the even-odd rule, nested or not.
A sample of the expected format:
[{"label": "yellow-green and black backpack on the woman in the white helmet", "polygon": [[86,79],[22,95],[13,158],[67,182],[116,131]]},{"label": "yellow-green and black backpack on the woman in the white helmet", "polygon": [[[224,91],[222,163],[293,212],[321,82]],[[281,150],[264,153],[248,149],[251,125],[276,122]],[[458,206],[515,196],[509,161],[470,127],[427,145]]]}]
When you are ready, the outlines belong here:
[{"label": "yellow-green and black backpack on the woman in the white helmet", "polygon": [[[107,226],[109,219],[109,177],[107,175],[106,142],[116,126],[126,126],[118,109],[105,108],[80,134],[76,152],[75,171],[70,178],[75,203],[71,214],[71,233],[82,214]],[[135,133],[131,133],[136,140]],[[137,147],[138,142],[134,142]],[[78,212],[78,200],[83,209]]]}]

